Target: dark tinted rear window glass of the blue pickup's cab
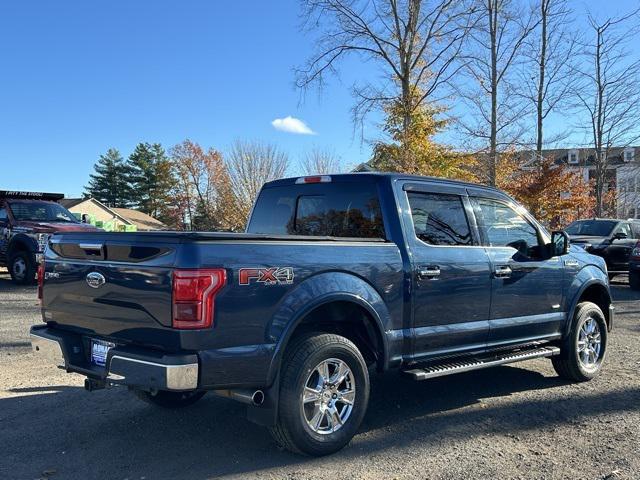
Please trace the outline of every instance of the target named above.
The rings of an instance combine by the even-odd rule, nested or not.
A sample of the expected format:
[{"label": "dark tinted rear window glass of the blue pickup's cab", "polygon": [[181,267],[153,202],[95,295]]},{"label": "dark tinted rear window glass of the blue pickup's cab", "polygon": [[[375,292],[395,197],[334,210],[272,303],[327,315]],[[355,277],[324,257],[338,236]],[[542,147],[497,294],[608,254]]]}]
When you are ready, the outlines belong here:
[{"label": "dark tinted rear window glass of the blue pickup's cab", "polygon": [[384,238],[375,184],[287,185],[260,193],[248,233]]}]

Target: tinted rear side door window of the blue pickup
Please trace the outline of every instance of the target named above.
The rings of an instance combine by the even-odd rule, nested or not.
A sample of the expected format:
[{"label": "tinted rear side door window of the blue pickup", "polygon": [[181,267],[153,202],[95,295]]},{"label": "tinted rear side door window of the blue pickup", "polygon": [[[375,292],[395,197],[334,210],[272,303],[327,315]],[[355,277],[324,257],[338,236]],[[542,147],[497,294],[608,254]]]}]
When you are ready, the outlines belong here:
[{"label": "tinted rear side door window of the blue pickup", "polygon": [[413,228],[429,245],[472,245],[471,230],[459,195],[407,193]]}]

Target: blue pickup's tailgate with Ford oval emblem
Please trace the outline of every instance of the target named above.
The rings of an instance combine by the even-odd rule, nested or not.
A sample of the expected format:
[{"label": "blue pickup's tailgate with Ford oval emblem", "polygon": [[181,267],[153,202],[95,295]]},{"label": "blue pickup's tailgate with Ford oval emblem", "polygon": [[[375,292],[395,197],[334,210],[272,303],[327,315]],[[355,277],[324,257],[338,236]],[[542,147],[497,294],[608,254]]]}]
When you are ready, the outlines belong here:
[{"label": "blue pickup's tailgate with Ford oval emblem", "polygon": [[44,320],[115,341],[150,345],[156,338],[166,347],[179,245],[166,235],[54,237],[46,256]]}]

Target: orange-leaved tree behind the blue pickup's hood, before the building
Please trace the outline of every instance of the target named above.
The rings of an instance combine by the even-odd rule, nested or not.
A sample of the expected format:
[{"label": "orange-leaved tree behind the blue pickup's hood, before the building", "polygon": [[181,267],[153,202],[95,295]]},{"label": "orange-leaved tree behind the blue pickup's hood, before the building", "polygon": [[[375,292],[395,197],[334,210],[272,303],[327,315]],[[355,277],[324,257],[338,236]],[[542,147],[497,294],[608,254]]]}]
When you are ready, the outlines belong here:
[{"label": "orange-leaved tree behind the blue pickup's hood, before the building", "polygon": [[579,172],[555,164],[552,158],[541,159],[533,169],[512,167],[511,164],[507,168],[512,172],[509,177],[499,178],[499,188],[543,224],[556,229],[593,215],[593,187]]}]

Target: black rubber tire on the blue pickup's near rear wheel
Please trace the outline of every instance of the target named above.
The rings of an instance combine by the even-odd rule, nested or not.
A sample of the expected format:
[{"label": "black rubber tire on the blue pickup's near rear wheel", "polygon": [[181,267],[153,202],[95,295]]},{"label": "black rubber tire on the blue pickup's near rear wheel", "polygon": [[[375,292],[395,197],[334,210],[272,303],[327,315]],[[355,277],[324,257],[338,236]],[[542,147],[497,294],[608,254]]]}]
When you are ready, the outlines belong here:
[{"label": "black rubber tire on the blue pickup's near rear wheel", "polygon": [[[348,378],[352,380],[351,383],[347,383],[348,380],[337,383],[332,390],[333,386],[327,386],[326,383],[324,388],[320,387],[321,378],[318,377],[318,388],[322,392],[325,392],[326,388],[327,401],[332,401],[331,391],[341,391],[340,386],[344,387],[343,392],[346,391],[345,389],[353,388],[355,393],[352,408],[345,417],[344,423],[337,426],[334,431],[323,434],[314,431],[307,423],[306,415],[309,415],[309,406],[311,409],[319,407],[316,403],[304,404],[302,393],[308,381],[316,375],[316,372],[319,372],[316,367],[324,361],[346,364],[351,374]],[[330,374],[329,378],[335,378],[336,370],[333,372],[327,370],[327,372]],[[335,399],[336,396],[334,395],[333,398]],[[318,400],[318,402],[322,401]],[[346,404],[341,404],[340,400],[333,400],[333,402],[333,408],[342,409],[342,413],[338,413],[338,417],[341,417],[345,412]],[[358,348],[350,340],[339,335],[321,333],[305,335],[295,340],[285,353],[281,372],[278,423],[270,431],[283,448],[294,453],[312,456],[329,455],[351,441],[360,427],[368,403],[369,372]],[[336,404],[339,406],[336,407]],[[323,421],[327,422],[325,428],[329,428],[329,418]],[[334,421],[331,420],[332,424]],[[338,425],[338,422],[335,425]],[[317,426],[321,428],[320,424]]]}]

